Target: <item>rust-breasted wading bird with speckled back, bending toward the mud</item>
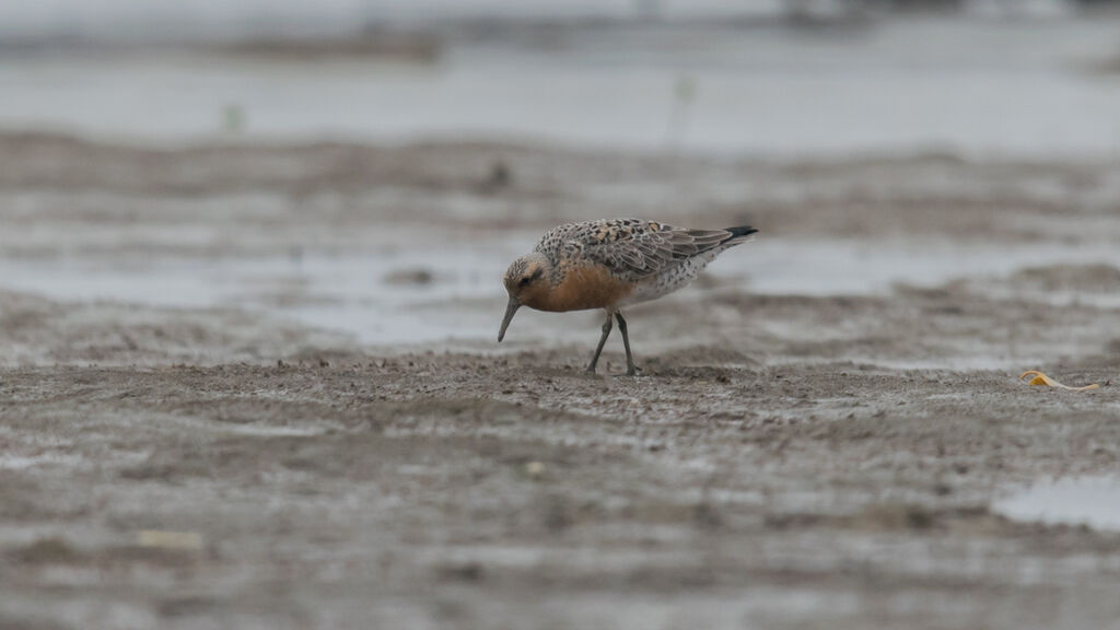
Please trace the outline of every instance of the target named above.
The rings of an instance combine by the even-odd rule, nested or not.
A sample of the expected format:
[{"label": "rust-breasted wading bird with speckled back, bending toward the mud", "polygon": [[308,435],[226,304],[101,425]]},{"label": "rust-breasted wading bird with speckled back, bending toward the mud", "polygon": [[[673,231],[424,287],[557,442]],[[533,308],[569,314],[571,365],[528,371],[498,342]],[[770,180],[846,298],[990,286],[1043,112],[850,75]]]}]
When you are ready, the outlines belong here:
[{"label": "rust-breasted wading bird with speckled back, bending toward the mud", "polygon": [[497,341],[505,339],[505,330],[522,306],[552,312],[603,308],[607,321],[587,371],[595,372],[614,318],[626,348],[626,373],[634,376],[637,368],[622,308],[688,285],[717,256],[750,240],[757,231],[746,225],[689,230],[641,219],[600,219],[553,228],[505,272],[510,303]]}]

